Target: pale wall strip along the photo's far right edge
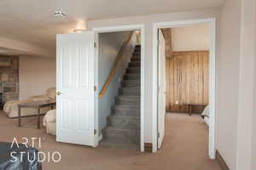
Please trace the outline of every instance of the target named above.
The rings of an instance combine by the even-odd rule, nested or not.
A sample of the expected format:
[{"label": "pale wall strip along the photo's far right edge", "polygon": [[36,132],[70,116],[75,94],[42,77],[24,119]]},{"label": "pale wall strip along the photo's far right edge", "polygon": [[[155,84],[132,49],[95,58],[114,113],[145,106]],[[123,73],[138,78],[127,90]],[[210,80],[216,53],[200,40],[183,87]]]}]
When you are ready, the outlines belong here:
[{"label": "pale wall strip along the photo's far right edge", "polygon": [[[252,170],[253,86],[255,55],[255,1],[241,1],[240,89],[237,127],[236,169]],[[255,110],[254,110],[255,112]],[[254,122],[256,123],[256,122]],[[256,160],[254,160],[256,161]]]}]

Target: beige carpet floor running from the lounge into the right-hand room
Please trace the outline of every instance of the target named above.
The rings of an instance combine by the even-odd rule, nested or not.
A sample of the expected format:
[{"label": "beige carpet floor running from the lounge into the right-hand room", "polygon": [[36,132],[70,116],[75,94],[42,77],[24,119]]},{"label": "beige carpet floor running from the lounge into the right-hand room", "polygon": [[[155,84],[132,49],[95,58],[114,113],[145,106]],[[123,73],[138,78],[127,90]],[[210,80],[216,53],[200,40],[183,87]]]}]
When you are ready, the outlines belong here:
[{"label": "beige carpet floor running from the lounge into the right-hand room", "polygon": [[207,156],[207,127],[200,116],[166,115],[166,136],[156,154],[137,150],[56,143],[55,137],[36,129],[36,117],[9,119],[0,112],[0,141],[11,142],[14,137],[42,139],[39,150],[61,153],[61,162],[44,162],[44,170],[220,170],[216,161]]}]

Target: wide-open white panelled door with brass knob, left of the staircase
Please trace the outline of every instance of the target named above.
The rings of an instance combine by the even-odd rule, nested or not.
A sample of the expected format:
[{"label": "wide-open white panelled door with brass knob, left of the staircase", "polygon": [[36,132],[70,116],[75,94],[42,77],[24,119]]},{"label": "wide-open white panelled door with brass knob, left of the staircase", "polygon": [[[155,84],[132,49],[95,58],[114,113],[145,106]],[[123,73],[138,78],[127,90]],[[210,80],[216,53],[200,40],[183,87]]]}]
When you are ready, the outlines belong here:
[{"label": "wide-open white panelled door with brass knob, left of the staircase", "polygon": [[56,140],[96,146],[94,32],[56,39]]}]

